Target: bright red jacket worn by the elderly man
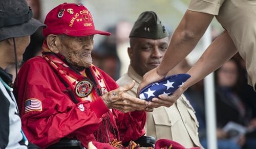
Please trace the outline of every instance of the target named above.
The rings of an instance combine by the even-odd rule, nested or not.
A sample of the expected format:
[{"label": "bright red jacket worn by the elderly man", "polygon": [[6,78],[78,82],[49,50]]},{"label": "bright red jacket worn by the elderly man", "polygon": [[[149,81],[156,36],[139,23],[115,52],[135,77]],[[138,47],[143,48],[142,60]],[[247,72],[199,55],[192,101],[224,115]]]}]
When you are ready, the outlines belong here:
[{"label": "bright red jacket worn by the elderly man", "polygon": [[[104,78],[108,91],[118,88],[108,74],[97,69]],[[100,117],[109,111],[100,96],[94,102],[74,104],[65,85],[42,57],[30,59],[19,70],[15,93],[22,128],[28,140],[43,148],[66,136],[76,137],[87,146],[89,141],[95,141],[93,132],[101,125]],[[31,98],[41,101],[41,111],[25,113],[25,101]],[[83,104],[84,111],[78,108],[80,104]],[[111,121],[116,121],[123,142],[136,140],[145,134],[145,112],[122,113],[112,109],[112,113]],[[113,139],[113,135],[110,135],[110,139]]]}]

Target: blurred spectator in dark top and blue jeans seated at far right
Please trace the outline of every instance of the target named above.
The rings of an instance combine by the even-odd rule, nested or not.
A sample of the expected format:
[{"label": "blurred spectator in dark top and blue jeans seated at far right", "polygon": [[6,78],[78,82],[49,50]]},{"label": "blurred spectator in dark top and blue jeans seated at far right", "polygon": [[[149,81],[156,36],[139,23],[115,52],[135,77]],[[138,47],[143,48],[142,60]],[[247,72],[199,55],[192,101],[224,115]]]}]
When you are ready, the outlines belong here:
[{"label": "blurred spectator in dark top and blue jeans seated at far right", "polygon": [[[251,120],[251,114],[248,113],[249,107],[244,103],[243,97],[238,95],[238,90],[241,89],[240,79],[242,79],[240,70],[239,63],[233,58],[216,70],[218,148],[242,148],[247,142],[246,134],[238,136],[238,139],[233,139],[232,132],[223,130],[230,121],[247,127]],[[256,141],[255,138],[254,141]],[[250,147],[255,148],[256,146]]]}]

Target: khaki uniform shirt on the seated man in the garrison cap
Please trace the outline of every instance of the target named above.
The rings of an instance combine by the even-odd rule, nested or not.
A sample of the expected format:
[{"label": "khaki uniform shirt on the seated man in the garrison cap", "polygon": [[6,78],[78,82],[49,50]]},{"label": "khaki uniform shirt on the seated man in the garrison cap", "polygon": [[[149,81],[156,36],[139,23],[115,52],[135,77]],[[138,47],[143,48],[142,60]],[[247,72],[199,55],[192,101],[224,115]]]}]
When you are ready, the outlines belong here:
[{"label": "khaki uniform shirt on the seated man in the garrison cap", "polygon": [[[129,66],[117,83],[119,86],[130,84],[135,80],[135,86],[127,91],[132,96],[136,96],[139,83],[142,77]],[[179,142],[185,147],[201,146],[198,137],[199,123],[186,97],[182,95],[177,102],[167,107],[155,108],[154,112],[147,112],[146,135],[156,139],[170,139]]]}]

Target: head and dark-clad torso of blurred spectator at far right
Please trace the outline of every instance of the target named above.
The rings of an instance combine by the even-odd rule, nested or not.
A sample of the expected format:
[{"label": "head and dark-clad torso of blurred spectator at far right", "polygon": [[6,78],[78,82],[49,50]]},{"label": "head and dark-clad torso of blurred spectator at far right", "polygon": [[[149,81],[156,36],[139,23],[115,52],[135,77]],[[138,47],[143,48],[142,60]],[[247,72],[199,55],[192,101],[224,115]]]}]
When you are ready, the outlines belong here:
[{"label": "head and dark-clad torso of blurred spectator at far right", "polygon": [[[228,121],[234,121],[245,125],[246,118],[245,105],[238,96],[236,90],[241,79],[239,75],[239,65],[234,59],[225,62],[216,70],[216,107],[217,126],[224,127]],[[225,113],[223,113],[225,111]]]}]

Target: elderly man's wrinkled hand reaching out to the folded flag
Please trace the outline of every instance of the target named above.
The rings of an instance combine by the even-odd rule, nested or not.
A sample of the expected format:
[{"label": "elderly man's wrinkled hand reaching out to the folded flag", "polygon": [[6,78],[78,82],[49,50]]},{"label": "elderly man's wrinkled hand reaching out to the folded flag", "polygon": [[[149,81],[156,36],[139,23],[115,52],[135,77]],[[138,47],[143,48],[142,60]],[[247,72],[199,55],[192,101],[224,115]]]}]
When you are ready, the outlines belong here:
[{"label": "elderly man's wrinkled hand reaching out to the folded flag", "polygon": [[124,87],[119,87],[115,90],[102,96],[105,105],[109,109],[117,109],[124,113],[131,112],[135,110],[145,110],[148,102],[140,100],[139,98],[133,97],[126,93],[126,91],[131,90],[135,85],[135,81]]}]

